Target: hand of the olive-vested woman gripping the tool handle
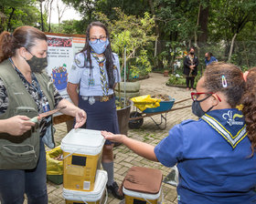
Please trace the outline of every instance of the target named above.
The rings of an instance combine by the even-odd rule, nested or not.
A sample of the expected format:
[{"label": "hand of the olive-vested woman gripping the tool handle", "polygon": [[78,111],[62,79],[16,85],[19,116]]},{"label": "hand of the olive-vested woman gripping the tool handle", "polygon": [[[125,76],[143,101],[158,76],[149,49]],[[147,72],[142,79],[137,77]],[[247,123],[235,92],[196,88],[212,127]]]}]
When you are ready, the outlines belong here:
[{"label": "hand of the olive-vested woman gripping the tool handle", "polygon": [[5,120],[0,120],[1,132],[6,132],[12,136],[22,136],[27,130],[36,124],[26,116],[15,116]]}]

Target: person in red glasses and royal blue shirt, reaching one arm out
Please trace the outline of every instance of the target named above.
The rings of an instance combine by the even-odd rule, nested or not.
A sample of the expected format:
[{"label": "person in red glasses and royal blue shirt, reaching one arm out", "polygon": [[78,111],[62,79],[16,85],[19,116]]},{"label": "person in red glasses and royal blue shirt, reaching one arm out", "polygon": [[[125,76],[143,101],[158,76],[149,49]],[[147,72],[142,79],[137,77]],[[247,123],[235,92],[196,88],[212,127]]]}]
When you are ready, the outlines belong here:
[{"label": "person in red glasses and royal blue shirt, reaching one arm out", "polygon": [[251,154],[255,142],[247,136],[244,117],[236,108],[244,89],[239,67],[213,63],[198,81],[197,92],[191,93],[197,121],[176,125],[156,147],[124,135],[102,135],[166,167],[177,164],[178,203],[256,203],[256,156]]}]

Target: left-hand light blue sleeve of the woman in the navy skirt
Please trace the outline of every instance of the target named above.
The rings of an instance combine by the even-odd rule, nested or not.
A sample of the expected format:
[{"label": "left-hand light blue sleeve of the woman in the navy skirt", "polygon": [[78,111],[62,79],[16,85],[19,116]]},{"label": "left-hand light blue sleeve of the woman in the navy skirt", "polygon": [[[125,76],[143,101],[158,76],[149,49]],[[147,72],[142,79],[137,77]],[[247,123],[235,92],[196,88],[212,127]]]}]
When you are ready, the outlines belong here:
[{"label": "left-hand light blue sleeve of the woman in the navy skirt", "polygon": [[69,71],[68,81],[72,84],[79,84],[84,67],[84,53],[79,53],[74,57],[73,64]]}]

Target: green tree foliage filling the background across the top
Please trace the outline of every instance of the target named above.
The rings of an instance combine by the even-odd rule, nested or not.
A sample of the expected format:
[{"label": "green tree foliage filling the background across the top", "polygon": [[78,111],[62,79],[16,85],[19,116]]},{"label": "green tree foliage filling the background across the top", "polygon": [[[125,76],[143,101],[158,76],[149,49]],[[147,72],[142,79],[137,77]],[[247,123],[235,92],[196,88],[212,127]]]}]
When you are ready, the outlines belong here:
[{"label": "green tree foliage filling the background across the top", "polygon": [[[144,55],[152,66],[172,66],[176,57],[189,46],[196,47],[201,64],[204,52],[211,51],[220,60],[239,66],[256,66],[256,60],[251,57],[256,44],[255,0],[62,0],[78,11],[82,19],[59,21],[51,26],[49,10],[40,10],[40,4],[48,2],[50,5],[50,1],[1,0],[0,30],[13,31],[22,25],[42,28],[43,25],[45,31],[84,34],[88,24],[104,16],[114,30],[113,47],[123,52],[118,40],[123,38],[122,43],[128,44],[148,37],[133,26],[136,19],[145,19],[147,15],[151,22],[150,36],[155,38],[149,37],[146,45],[140,42],[141,48],[136,52],[146,51]],[[47,9],[51,9],[50,6]]]}]

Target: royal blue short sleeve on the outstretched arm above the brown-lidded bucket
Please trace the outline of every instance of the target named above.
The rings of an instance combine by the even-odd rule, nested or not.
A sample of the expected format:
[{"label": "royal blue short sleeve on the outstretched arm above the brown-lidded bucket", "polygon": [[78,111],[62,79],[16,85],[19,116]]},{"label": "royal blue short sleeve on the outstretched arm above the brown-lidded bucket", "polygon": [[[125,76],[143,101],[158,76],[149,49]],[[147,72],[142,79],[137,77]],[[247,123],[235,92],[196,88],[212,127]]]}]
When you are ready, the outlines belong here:
[{"label": "royal blue short sleeve on the outstretched arm above the brown-lidded bucket", "polygon": [[155,156],[165,167],[173,167],[183,158],[184,138],[182,125],[176,125],[169,131],[169,135],[155,146]]}]

